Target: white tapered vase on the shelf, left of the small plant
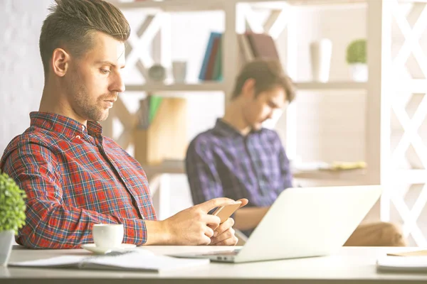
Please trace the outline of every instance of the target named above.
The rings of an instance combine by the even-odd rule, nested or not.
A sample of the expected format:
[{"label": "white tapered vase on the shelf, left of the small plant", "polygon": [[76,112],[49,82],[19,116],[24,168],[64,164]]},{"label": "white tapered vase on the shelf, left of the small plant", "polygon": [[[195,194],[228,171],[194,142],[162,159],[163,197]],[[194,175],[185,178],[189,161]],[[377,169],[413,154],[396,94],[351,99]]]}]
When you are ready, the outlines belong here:
[{"label": "white tapered vase on the shelf, left of the small plant", "polygon": [[312,80],[327,82],[330,77],[332,41],[327,38],[310,43]]}]

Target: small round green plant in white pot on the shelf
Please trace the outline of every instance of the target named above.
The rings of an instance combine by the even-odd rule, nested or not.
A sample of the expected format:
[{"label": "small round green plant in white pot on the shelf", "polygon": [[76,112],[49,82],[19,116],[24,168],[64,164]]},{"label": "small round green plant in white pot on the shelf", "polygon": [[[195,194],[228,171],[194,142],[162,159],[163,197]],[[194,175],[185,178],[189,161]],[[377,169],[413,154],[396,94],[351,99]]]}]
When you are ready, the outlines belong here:
[{"label": "small round green plant in white pot on the shelf", "polygon": [[350,75],[356,82],[368,80],[367,66],[367,40],[353,40],[347,46],[347,63],[350,67]]}]

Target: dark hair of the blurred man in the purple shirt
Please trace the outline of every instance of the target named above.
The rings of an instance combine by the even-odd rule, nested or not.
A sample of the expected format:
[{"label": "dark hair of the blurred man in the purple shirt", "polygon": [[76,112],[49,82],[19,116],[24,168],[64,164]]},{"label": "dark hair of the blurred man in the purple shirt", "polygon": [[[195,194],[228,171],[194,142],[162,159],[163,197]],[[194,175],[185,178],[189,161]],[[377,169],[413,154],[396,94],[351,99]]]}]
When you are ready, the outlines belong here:
[{"label": "dark hair of the blurred man in the purple shirt", "polygon": [[241,94],[243,84],[249,79],[255,80],[255,96],[275,87],[282,87],[288,102],[295,99],[294,84],[285,74],[279,60],[253,60],[246,63],[237,77],[231,99],[235,99]]}]

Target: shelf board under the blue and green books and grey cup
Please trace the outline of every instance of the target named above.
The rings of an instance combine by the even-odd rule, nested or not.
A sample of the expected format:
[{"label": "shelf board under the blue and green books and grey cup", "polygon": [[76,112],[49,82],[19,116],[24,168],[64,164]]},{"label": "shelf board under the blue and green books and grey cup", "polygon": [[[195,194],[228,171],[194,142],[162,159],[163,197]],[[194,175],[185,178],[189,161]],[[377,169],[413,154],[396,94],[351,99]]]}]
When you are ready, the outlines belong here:
[{"label": "shelf board under the blue and green books and grey cup", "polygon": [[200,84],[127,84],[126,92],[225,92],[221,82]]}]

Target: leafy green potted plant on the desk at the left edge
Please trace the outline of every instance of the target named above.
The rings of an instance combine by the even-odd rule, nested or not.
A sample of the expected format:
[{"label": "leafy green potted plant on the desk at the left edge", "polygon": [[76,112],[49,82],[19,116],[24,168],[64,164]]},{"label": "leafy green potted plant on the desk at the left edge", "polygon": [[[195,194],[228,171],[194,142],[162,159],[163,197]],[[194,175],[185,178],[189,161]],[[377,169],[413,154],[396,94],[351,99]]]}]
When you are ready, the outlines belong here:
[{"label": "leafy green potted plant on the desk at the left edge", "polygon": [[25,224],[26,194],[6,173],[0,173],[0,266],[7,266],[14,236]]}]

